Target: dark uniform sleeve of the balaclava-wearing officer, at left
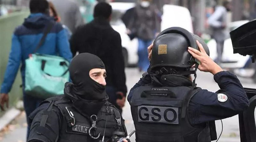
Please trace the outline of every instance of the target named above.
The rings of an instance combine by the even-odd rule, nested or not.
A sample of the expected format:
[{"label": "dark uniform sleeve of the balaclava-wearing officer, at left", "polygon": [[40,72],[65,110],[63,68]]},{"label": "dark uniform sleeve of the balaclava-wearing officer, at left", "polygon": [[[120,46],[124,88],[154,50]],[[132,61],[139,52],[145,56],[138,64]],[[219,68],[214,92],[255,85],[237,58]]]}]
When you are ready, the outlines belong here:
[{"label": "dark uniform sleeve of the balaclava-wearing officer, at left", "polygon": [[[40,109],[40,107],[37,109]],[[28,142],[55,142],[59,137],[59,130],[62,123],[60,114],[60,110],[55,106],[47,114],[45,113],[45,109],[41,109],[31,124]],[[44,122],[46,115],[48,115],[48,119]]]}]

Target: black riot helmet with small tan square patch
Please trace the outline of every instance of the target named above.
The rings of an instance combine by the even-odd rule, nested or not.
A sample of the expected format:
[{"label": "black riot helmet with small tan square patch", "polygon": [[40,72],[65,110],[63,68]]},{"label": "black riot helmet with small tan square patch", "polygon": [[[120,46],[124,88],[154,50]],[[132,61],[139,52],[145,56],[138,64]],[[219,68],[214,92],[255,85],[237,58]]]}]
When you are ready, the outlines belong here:
[{"label": "black riot helmet with small tan square patch", "polygon": [[196,64],[195,58],[188,52],[188,47],[199,50],[196,40],[210,55],[208,46],[199,36],[180,27],[171,27],[162,31],[153,43],[151,69],[160,66],[189,68]]}]

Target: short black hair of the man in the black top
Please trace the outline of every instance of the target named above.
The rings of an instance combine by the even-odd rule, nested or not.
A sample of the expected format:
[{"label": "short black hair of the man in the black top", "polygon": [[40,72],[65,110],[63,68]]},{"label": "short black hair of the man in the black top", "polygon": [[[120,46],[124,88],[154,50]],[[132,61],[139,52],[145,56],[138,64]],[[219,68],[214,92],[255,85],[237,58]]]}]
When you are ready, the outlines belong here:
[{"label": "short black hair of the man in the black top", "polygon": [[102,17],[108,19],[111,13],[111,5],[105,2],[100,2],[94,8],[93,17]]}]

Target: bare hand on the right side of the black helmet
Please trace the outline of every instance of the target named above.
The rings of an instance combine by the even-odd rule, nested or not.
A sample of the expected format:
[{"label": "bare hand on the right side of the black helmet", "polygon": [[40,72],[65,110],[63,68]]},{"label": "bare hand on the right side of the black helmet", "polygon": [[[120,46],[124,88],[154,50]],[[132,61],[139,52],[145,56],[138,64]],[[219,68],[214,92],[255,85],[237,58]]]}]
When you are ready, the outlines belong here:
[{"label": "bare hand on the right side of the black helmet", "polygon": [[201,43],[199,43],[199,41],[196,41],[196,43],[197,43],[200,51],[198,51],[194,48],[188,47],[188,52],[200,62],[198,69],[200,71],[204,71],[204,72],[211,72],[213,75],[222,71],[221,67],[218,64],[216,64],[206,54],[206,52],[203,48],[203,45]]}]

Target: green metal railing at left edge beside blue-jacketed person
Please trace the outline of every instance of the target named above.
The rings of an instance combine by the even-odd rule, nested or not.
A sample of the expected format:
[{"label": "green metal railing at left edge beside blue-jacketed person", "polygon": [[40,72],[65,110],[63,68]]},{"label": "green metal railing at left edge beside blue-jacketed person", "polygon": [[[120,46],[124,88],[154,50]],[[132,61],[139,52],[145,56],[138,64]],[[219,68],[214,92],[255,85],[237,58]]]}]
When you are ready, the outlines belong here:
[{"label": "green metal railing at left edge beside blue-jacketed person", "polygon": [[[12,34],[14,29],[21,25],[29,15],[28,11],[14,12],[0,17],[0,85],[4,79],[4,73],[8,63],[9,53],[12,43]],[[12,85],[11,92],[9,93],[9,108],[15,105],[17,101],[22,97],[22,88],[20,71]],[[4,114],[0,110],[0,116]]]}]

